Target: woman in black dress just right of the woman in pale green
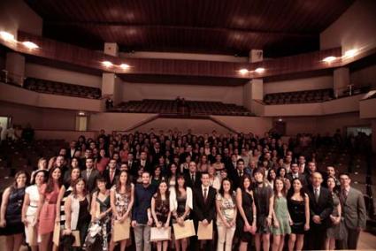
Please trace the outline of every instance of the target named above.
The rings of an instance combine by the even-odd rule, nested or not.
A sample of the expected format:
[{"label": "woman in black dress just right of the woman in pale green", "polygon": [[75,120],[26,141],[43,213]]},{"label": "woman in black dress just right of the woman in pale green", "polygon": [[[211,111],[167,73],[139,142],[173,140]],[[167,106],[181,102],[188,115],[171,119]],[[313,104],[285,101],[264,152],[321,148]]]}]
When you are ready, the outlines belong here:
[{"label": "woman in black dress just right of the woman in pale green", "polygon": [[[288,240],[288,250],[302,250],[304,232],[310,229],[310,200],[303,191],[302,181],[293,179],[293,184],[288,191],[288,212],[293,224]],[[296,242],[296,244],[295,244]]]}]

